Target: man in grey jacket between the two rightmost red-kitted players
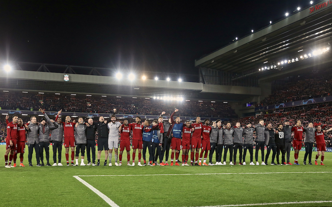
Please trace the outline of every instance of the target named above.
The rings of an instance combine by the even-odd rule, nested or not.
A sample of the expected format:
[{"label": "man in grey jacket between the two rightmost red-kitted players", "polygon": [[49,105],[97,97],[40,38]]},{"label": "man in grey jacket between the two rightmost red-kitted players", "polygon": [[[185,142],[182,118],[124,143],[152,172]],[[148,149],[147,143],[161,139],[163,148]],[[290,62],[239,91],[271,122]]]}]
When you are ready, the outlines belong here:
[{"label": "man in grey jacket between the two rightmost red-kitted players", "polygon": [[312,155],[313,144],[315,143],[315,131],[317,131],[317,129],[314,128],[313,124],[310,122],[308,124],[308,127],[304,127],[303,130],[305,132],[305,137],[304,137],[305,154],[304,154],[303,165],[307,164],[306,160],[308,155],[309,155],[308,165],[312,165],[311,155]]}]

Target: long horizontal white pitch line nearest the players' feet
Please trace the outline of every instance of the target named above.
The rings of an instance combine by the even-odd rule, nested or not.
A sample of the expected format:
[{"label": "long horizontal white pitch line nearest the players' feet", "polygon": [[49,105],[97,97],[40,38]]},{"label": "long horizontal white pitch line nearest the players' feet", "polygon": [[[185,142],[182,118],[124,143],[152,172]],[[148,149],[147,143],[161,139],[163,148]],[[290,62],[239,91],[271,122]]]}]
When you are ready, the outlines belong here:
[{"label": "long horizontal white pitch line nearest the players' feet", "polygon": [[332,173],[332,172],[269,172],[269,173],[196,173],[196,174],[147,174],[147,175],[84,175],[78,177],[103,176],[178,176],[178,175],[236,175],[236,174],[283,174],[283,173]]}]

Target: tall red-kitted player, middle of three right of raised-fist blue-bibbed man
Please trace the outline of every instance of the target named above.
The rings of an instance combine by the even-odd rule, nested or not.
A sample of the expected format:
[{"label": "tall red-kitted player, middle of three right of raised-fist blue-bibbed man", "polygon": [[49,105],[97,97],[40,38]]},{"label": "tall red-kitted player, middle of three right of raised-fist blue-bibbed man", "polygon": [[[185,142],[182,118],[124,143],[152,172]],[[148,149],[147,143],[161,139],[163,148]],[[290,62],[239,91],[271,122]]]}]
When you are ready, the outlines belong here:
[{"label": "tall red-kitted player, middle of three right of raised-fist blue-bibbed man", "polygon": [[[201,123],[201,117],[196,117],[196,122],[194,124],[191,124],[191,126],[194,128],[193,135],[191,136],[191,165],[198,165],[198,159],[199,159],[199,153],[200,148],[202,147],[202,128],[203,124]],[[196,149],[196,153],[195,153]],[[194,157],[195,155],[195,157]]]}]

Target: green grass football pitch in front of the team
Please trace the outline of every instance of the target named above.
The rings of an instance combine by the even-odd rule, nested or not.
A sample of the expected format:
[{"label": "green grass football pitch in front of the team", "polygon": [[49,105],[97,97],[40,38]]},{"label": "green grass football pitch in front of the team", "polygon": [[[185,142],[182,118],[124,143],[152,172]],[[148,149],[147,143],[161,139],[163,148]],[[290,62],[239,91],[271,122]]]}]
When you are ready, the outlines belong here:
[{"label": "green grass football pitch in front of the team", "polygon": [[[4,153],[0,145],[3,166]],[[325,166],[250,166],[248,153],[247,166],[230,166],[227,157],[226,166],[140,167],[137,153],[135,166],[123,157],[123,166],[114,165],[113,155],[112,167],[36,167],[33,155],[34,167],[2,167],[1,206],[332,206],[332,153],[325,153]],[[50,146],[51,164],[52,158]],[[28,152],[23,163],[28,165]]]}]

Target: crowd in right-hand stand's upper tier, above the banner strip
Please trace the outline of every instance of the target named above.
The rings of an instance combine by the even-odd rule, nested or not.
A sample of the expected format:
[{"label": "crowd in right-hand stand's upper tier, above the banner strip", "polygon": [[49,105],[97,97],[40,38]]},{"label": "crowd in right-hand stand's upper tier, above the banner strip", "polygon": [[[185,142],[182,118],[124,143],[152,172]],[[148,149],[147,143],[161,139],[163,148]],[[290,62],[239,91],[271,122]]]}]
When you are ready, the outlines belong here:
[{"label": "crowd in right-hand stand's upper tier, above the banner strip", "polygon": [[312,71],[301,76],[290,77],[285,84],[274,87],[260,106],[286,103],[290,101],[330,96],[332,91],[332,69]]}]

